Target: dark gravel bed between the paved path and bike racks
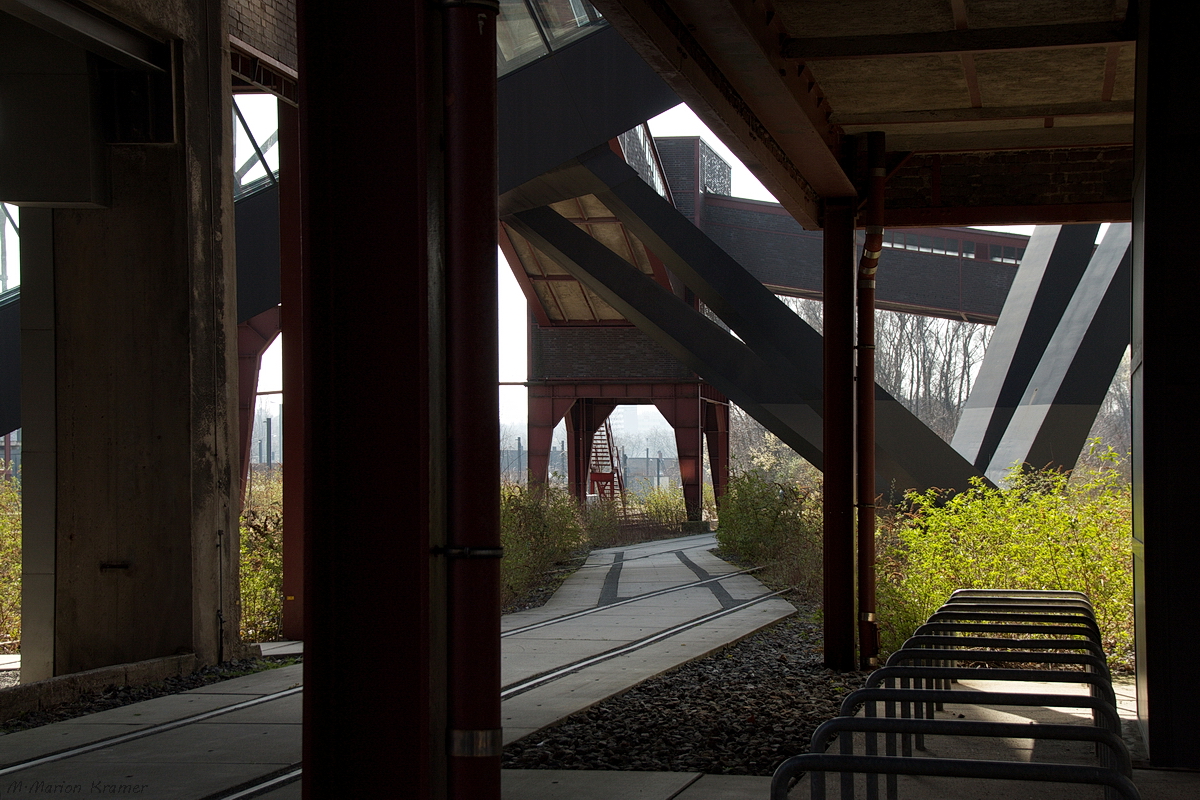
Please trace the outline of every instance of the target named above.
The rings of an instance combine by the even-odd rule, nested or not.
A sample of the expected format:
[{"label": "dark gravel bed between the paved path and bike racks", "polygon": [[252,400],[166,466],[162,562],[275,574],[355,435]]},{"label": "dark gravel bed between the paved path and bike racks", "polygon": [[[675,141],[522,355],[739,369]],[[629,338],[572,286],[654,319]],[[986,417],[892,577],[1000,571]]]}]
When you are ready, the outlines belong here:
[{"label": "dark gravel bed between the paved path and bike racks", "polygon": [[812,608],[648,680],[504,751],[506,769],[770,775],[805,752],[865,672],[821,664]]}]

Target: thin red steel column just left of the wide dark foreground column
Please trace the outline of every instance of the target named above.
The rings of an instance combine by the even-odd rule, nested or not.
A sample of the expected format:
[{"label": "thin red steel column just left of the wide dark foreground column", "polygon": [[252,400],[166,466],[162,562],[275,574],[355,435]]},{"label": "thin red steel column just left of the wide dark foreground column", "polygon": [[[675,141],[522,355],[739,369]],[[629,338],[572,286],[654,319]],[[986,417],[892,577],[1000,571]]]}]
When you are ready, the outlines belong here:
[{"label": "thin red steel column just left of the wide dark foreground column", "polygon": [[300,255],[300,110],[278,101],[280,324],[283,329],[283,636],[304,639],[304,288]]}]

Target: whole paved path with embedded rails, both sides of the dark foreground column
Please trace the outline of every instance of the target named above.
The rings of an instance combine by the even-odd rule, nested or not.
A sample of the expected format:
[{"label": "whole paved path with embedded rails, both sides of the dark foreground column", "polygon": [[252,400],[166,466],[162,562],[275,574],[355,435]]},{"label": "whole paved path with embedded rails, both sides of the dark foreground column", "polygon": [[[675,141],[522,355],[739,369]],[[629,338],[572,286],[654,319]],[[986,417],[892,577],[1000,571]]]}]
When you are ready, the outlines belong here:
[{"label": "whole paved path with embedded rails, both sides of the dark foreground column", "polygon": [[[750,575],[755,570],[724,572],[730,569],[728,565],[704,553],[713,543],[712,536],[692,536],[594,553],[596,563],[582,567],[577,579],[572,576],[576,589],[582,587],[582,594],[577,593],[570,601],[574,607],[562,613],[551,610],[548,616],[542,612],[540,619],[529,618],[527,624],[517,621],[515,627],[500,634],[502,649],[510,648],[518,656],[532,658],[533,664],[532,670],[527,670],[529,674],[504,681],[500,697],[506,718],[521,712],[524,705],[541,708],[550,696],[569,698],[584,708],[595,702],[589,692],[600,684],[610,693],[622,691],[619,685],[610,685],[608,679],[600,681],[595,678],[605,674],[606,669],[616,669],[636,684],[642,679],[640,670],[646,663],[653,662],[656,670],[662,668],[664,652],[682,663],[701,655],[704,646],[713,642],[716,642],[713,646],[720,646],[725,639],[733,640],[751,632],[761,624],[760,618],[773,620],[790,613],[791,607],[778,599],[780,593],[764,591],[761,584],[752,581]],[[580,603],[587,607],[580,608]],[[756,615],[773,603],[782,603],[786,609],[776,608],[757,615],[744,631],[738,627],[745,624],[746,614]],[[713,630],[719,631],[715,638]],[[581,639],[572,638],[581,634]],[[539,648],[542,650],[532,655],[522,651]],[[252,679],[258,676],[252,676],[246,684],[229,686],[224,691],[208,687],[203,699],[196,697],[196,702],[206,708],[194,714],[180,712],[170,703],[158,706],[136,704],[114,710],[125,711],[116,716],[56,723],[52,726],[52,734],[41,734],[36,741],[2,736],[0,753],[6,750],[2,745],[8,744],[7,752],[13,758],[6,759],[0,754],[0,792],[6,796],[14,790],[47,793],[61,783],[65,789],[60,793],[71,793],[71,787],[79,784],[73,792],[86,794],[92,780],[100,778],[100,784],[112,784],[115,787],[113,790],[125,787],[125,793],[143,796],[181,800],[290,796],[299,790],[290,784],[299,781],[302,774],[299,763],[300,715],[298,708],[282,704],[299,706],[296,697],[302,686],[268,691],[281,684],[266,682],[271,680],[265,678],[266,674],[262,674],[264,682],[256,682]],[[293,680],[290,675],[280,678]],[[299,675],[295,679],[299,680]],[[584,691],[580,690],[581,682],[587,684]],[[262,694],[257,694],[259,690]],[[212,708],[212,704],[228,698],[211,694],[236,692],[257,696],[232,699],[227,705]],[[158,698],[149,703],[168,699]],[[554,714],[569,714],[571,710],[556,706]],[[145,717],[166,712],[174,718],[142,724],[142,711]],[[238,712],[245,714],[233,716]],[[108,733],[108,726],[127,727],[131,723],[138,724],[137,729],[103,735]],[[510,722],[504,724],[508,734]],[[524,721],[522,724],[542,723]],[[209,726],[222,726],[222,729]],[[515,730],[514,735],[523,735],[522,730]],[[43,741],[54,742],[59,735],[76,741],[80,738],[89,740],[66,747],[54,744],[43,746]],[[505,739],[509,740],[509,736]],[[217,756],[206,756],[206,747],[216,748],[206,753],[217,752]],[[262,752],[263,748],[268,752]],[[180,753],[186,754],[180,757]],[[173,760],[176,758],[179,764]],[[210,769],[208,763],[212,759],[222,765],[223,771]],[[134,792],[130,788],[134,783],[149,788]]]}]

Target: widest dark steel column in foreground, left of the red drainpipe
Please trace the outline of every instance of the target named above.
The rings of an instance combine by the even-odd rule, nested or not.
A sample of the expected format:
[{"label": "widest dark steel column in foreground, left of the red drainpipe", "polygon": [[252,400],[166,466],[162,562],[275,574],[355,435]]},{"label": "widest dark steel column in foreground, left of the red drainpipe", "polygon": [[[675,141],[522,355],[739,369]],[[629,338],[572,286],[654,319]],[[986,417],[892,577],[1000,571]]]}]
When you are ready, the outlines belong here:
[{"label": "widest dark steel column in foreground, left of the red drainpipe", "polygon": [[[442,17],[425,2],[316,0],[300,0],[296,17],[311,443],[304,796],[444,798],[445,594],[431,587],[444,560],[432,549],[444,543],[446,462],[443,431],[431,437],[445,405],[444,312],[431,288],[442,266]],[[494,375],[485,381],[494,392]],[[364,415],[362,403],[388,413]],[[480,446],[494,474],[496,437]],[[494,500],[488,488],[478,493]],[[496,620],[487,625],[472,643],[481,660],[499,646]],[[365,643],[370,657],[356,657]],[[485,694],[480,703],[496,686]]]}]

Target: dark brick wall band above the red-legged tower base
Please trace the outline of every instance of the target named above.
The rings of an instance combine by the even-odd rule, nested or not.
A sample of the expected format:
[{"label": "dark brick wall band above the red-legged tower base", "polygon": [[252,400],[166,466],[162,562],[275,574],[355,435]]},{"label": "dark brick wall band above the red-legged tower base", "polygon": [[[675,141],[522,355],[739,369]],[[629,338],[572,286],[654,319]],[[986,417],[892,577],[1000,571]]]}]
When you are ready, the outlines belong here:
[{"label": "dark brick wall band above the red-legged tower base", "polygon": [[696,374],[636,327],[532,325],[529,378],[692,381]]}]

